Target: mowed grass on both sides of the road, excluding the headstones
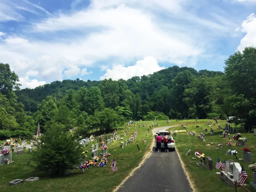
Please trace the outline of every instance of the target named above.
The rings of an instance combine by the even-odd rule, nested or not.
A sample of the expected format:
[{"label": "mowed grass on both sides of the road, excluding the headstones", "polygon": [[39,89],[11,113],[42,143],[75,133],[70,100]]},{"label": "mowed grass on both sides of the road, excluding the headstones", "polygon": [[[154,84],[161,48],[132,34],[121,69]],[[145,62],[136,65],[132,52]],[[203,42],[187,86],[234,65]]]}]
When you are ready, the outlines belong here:
[{"label": "mowed grass on both sides of the road, excluding the headstones", "polygon": [[[167,121],[157,121],[160,126],[177,126],[172,127],[170,132],[172,133],[173,130],[184,130],[180,124],[183,123],[190,132],[196,131],[196,135],[200,134],[201,132],[205,134],[205,140],[201,141],[196,136],[188,135],[187,132],[178,132],[178,136],[175,137],[176,148],[182,161],[184,162],[184,166],[188,175],[190,175],[190,181],[194,183],[196,187],[195,191],[234,191],[234,188],[228,187],[225,182],[219,179],[219,175],[215,170],[215,165],[217,162],[217,158],[220,157],[221,162],[224,159],[229,160],[233,159],[235,162],[240,163],[243,165],[249,178],[246,182],[246,187],[254,191],[253,188],[249,186],[249,182],[253,181],[253,173],[249,170],[248,165],[251,163],[244,163],[242,160],[236,159],[235,156],[226,156],[226,152],[228,149],[238,151],[238,158],[243,158],[242,155],[242,146],[236,147],[236,141],[232,139],[233,135],[236,133],[231,133],[231,140],[232,146],[226,146],[228,142],[227,138],[222,138],[222,130],[218,131],[217,126],[214,127],[215,135],[210,135],[210,127],[207,125],[207,121],[211,120],[179,120],[176,122],[175,120],[170,120],[170,123]],[[10,190],[18,190],[18,191],[29,191],[29,190],[36,190],[36,191],[112,191],[116,186],[118,186],[122,180],[130,173],[130,171],[137,167],[138,164],[141,162],[142,157],[144,156],[145,152],[148,150],[152,150],[150,148],[150,144],[153,141],[153,134],[152,129],[158,126],[152,127],[153,121],[147,121],[147,127],[138,128],[138,136],[133,143],[128,143],[127,147],[120,149],[120,140],[117,142],[113,142],[108,144],[109,153],[111,156],[108,158],[108,165],[104,168],[97,167],[88,169],[85,171],[84,174],[81,174],[81,170],[77,169],[71,172],[70,174],[64,177],[51,177],[45,173],[36,172],[34,171],[34,162],[29,162],[30,155],[26,153],[24,155],[16,156],[13,155],[14,163],[10,163],[9,165],[1,165],[0,166],[0,173],[1,173],[1,182],[0,182],[0,191],[10,191]],[[215,121],[214,121],[215,122]],[[140,122],[139,122],[140,123]],[[196,124],[195,124],[196,123]],[[226,121],[218,121],[218,124],[222,127],[225,127]],[[141,122],[141,125],[143,121]],[[217,125],[217,124],[216,124]],[[150,129],[150,127],[152,129]],[[196,126],[199,126],[197,128]],[[202,126],[202,130],[200,127]],[[231,127],[235,127],[231,125]],[[207,128],[208,132],[203,132],[203,128]],[[242,137],[247,138],[246,146],[249,147],[252,151],[252,161],[255,163],[255,138],[253,133],[245,133],[243,129],[239,127],[235,127],[238,129],[238,132],[242,134]],[[125,132],[127,128],[125,126],[121,127],[121,130],[117,131],[117,134],[120,137]],[[146,130],[150,130],[148,132],[148,137],[146,137]],[[135,131],[135,127],[131,127],[128,130],[128,133],[125,137],[123,137],[123,142],[125,139],[128,140],[129,135],[133,135]],[[142,138],[146,139],[146,142],[142,140]],[[180,142],[179,142],[180,139]],[[211,142],[214,142],[211,145]],[[222,142],[222,148],[218,147],[218,144]],[[91,143],[92,144],[92,143]],[[95,144],[95,143],[94,143]],[[141,152],[138,152],[136,144],[139,145]],[[100,143],[99,143],[100,145]],[[88,158],[90,159],[90,145],[86,147],[88,152]],[[187,156],[186,152],[191,150],[191,156]],[[213,160],[214,170],[208,171],[203,167],[198,167],[196,165],[196,161],[200,161],[199,159],[192,159],[196,150],[199,150],[205,154],[205,156],[209,156]],[[100,155],[101,150],[99,150],[98,154]],[[115,158],[118,166],[118,172],[113,173],[110,169],[111,162]],[[170,162],[171,163],[171,162]],[[29,165],[29,166],[28,166]],[[14,179],[27,179],[29,177],[40,177],[40,180],[37,182],[29,182],[24,183],[23,185],[18,186],[8,186],[8,182]],[[243,189],[239,188],[238,191],[244,191]]]}]

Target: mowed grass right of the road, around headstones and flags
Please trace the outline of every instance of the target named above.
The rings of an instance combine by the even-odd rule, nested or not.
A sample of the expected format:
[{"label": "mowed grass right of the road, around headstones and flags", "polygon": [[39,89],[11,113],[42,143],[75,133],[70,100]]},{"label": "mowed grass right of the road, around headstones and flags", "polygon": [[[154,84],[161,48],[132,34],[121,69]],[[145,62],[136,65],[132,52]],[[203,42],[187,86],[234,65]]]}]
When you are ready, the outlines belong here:
[{"label": "mowed grass right of the road, around headstones and flags", "polygon": [[[211,120],[208,120],[211,121]],[[192,122],[192,124],[190,124],[190,122]],[[199,123],[200,122],[200,123]],[[175,137],[175,142],[176,142],[176,148],[178,150],[178,153],[180,154],[180,157],[182,158],[182,161],[185,164],[185,168],[186,171],[188,172],[188,174],[191,176],[190,180],[194,183],[194,186],[196,187],[195,191],[234,191],[234,188],[232,187],[228,187],[228,185],[222,181],[219,178],[219,175],[216,174],[216,172],[219,172],[219,170],[215,169],[216,166],[216,162],[218,157],[220,158],[221,162],[223,163],[224,159],[229,160],[232,159],[235,162],[240,163],[240,165],[244,166],[246,173],[248,175],[248,179],[246,181],[246,188],[250,191],[255,191],[255,189],[253,189],[250,186],[250,182],[253,182],[253,172],[248,168],[249,164],[252,163],[245,163],[242,160],[239,160],[239,158],[243,158],[243,153],[242,153],[242,149],[245,146],[236,146],[236,142],[233,139],[233,135],[236,135],[236,133],[230,133],[231,136],[231,141],[228,140],[228,138],[222,138],[222,131],[223,130],[218,130],[218,124],[221,125],[222,127],[224,127],[225,129],[225,123],[226,121],[219,121],[218,120],[218,124],[216,124],[216,127],[214,127],[214,135],[210,134],[210,128],[209,125],[207,125],[207,120],[198,120],[195,124],[195,120],[193,121],[178,121],[179,126],[178,127],[173,127],[171,128],[171,133],[172,130],[184,130],[180,124],[183,123],[190,132],[195,131],[196,135],[200,133],[204,133],[205,134],[205,140],[206,141],[202,141],[200,139],[197,138],[197,136],[192,136],[189,135],[188,132],[178,132],[178,135]],[[215,121],[213,121],[213,123],[215,123]],[[212,123],[212,125],[213,125]],[[175,122],[175,124],[177,124]],[[199,126],[199,128],[197,128],[196,126]],[[201,129],[202,126],[202,129]],[[256,162],[256,136],[253,135],[253,133],[246,133],[244,129],[240,128],[239,126],[235,127],[235,125],[231,125],[231,127],[235,128],[236,130],[238,130],[238,133],[241,133],[242,137],[246,137],[247,138],[247,142],[246,143],[246,147],[250,148],[251,153],[252,153],[252,162],[255,163]],[[204,132],[203,129],[207,128],[208,132]],[[178,141],[178,139],[180,139],[180,142]],[[213,144],[211,144],[211,142],[214,142]],[[222,142],[222,148],[220,148],[220,146],[218,146],[218,144]],[[226,146],[227,142],[231,142],[232,145],[231,146]],[[238,159],[236,159],[235,156],[227,156],[226,152],[228,150],[236,150],[238,152]],[[191,150],[191,156],[187,156],[186,153],[188,150]],[[211,157],[212,161],[213,161],[213,166],[214,166],[214,170],[209,171],[207,169],[205,169],[203,166],[198,167],[196,165],[197,161],[200,161],[200,159],[192,159],[192,157],[195,157],[195,152],[196,150],[201,151],[202,153],[205,154],[205,156],[209,156]],[[238,188],[238,191],[244,191],[244,189],[242,188]]]}]

